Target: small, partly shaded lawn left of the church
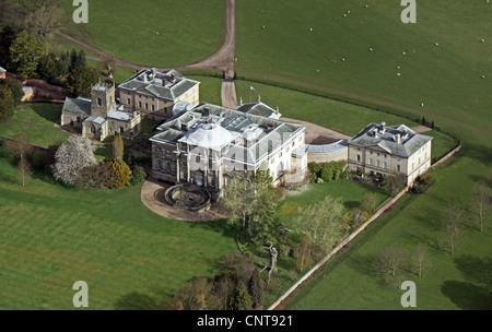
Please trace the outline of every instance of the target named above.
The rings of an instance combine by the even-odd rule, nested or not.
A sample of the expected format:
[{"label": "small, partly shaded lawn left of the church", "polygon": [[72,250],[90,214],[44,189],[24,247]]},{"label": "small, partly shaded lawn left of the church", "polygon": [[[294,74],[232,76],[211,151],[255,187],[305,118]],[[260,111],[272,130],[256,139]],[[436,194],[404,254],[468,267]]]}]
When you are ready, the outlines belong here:
[{"label": "small, partly shaded lawn left of the church", "polygon": [[13,139],[17,132],[25,132],[31,144],[48,147],[69,135],[54,126],[60,116],[61,105],[22,104],[16,107],[12,120],[0,122],[0,137]]}]

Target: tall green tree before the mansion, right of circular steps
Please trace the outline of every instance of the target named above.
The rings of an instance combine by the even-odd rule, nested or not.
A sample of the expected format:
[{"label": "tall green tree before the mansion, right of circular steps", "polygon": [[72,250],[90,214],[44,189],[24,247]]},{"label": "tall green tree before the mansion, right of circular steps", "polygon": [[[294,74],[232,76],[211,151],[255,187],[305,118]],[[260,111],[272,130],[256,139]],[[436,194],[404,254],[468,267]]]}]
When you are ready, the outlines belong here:
[{"label": "tall green tree before the mansion, right of circular steps", "polygon": [[229,223],[237,227],[236,244],[241,252],[239,236],[254,246],[263,244],[274,233],[277,195],[271,178],[258,171],[254,177],[236,175],[224,190],[222,205],[230,213]]}]

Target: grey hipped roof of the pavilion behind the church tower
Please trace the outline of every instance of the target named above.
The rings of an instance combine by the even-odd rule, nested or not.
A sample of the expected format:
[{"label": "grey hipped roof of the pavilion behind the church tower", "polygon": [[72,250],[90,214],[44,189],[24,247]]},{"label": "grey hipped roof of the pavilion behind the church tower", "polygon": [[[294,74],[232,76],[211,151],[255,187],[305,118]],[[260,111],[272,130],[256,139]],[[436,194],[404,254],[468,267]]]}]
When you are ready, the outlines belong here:
[{"label": "grey hipped roof of the pavilion behind the church tower", "polygon": [[187,91],[199,84],[200,82],[186,79],[176,70],[157,72],[151,69],[142,69],[119,84],[118,88],[138,91],[157,98],[176,100]]}]

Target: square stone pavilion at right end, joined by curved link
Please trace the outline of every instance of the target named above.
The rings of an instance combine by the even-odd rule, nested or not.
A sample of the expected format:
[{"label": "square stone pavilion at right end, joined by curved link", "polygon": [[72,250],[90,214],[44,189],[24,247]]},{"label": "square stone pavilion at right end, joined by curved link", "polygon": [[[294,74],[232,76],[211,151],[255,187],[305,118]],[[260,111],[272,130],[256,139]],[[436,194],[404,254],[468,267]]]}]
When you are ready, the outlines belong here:
[{"label": "square stone pavilion at right end, joined by curved link", "polygon": [[349,140],[349,168],[378,176],[402,175],[410,186],[431,167],[432,137],[405,124],[370,123]]}]

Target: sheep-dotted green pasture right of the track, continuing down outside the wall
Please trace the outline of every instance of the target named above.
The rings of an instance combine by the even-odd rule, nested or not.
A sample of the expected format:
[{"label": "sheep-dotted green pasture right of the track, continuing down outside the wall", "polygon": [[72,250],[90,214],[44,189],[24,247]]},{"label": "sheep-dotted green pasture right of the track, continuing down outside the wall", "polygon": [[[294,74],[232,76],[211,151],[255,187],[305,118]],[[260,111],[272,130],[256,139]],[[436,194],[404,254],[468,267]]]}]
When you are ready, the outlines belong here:
[{"label": "sheep-dotted green pasture right of the track, continuing down outside the wall", "polygon": [[[452,257],[435,248],[440,239],[433,225],[448,201],[468,205],[473,183],[491,175],[492,8],[485,1],[418,2],[418,23],[407,25],[400,22],[402,9],[389,0],[238,3],[238,75],[315,90],[411,119],[424,116],[456,134],[464,146],[459,158],[433,171],[437,182],[431,190],[398,202],[395,212],[382,218],[384,227],[328,265],[325,277],[301,289],[289,309],[401,308],[402,292],[383,285],[367,268],[367,258],[385,246],[413,250],[422,241],[432,247],[435,263],[429,277],[418,281],[418,308],[490,308],[490,278],[480,277],[490,274],[490,229],[467,232],[460,251]],[[239,94],[249,97],[245,87]],[[324,126],[333,118],[311,108],[292,112],[284,106],[281,112]],[[328,127],[340,126],[343,132],[352,121]],[[454,145],[443,139],[434,140],[433,157]]]}]

